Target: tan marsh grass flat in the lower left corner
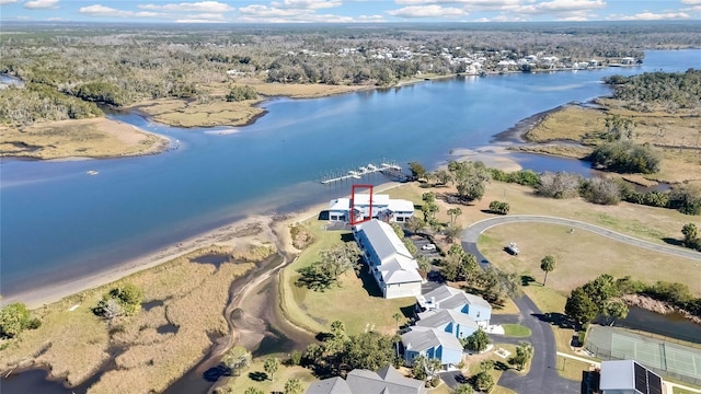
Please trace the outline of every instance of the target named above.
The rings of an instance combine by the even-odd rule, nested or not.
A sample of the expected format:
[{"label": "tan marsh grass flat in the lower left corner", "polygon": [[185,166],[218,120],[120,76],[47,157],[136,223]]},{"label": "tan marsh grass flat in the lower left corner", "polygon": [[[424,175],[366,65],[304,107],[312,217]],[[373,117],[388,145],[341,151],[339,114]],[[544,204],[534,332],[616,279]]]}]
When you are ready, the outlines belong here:
[{"label": "tan marsh grass flat in the lower left corner", "polygon": [[[44,364],[51,376],[79,384],[113,359],[91,391],[162,392],[206,354],[212,337],[228,333],[222,311],[229,287],[253,266],[226,262],[231,252],[200,250],[34,311],[42,326],[0,351],[0,370]],[[221,264],[196,262],[205,255],[221,255]],[[93,315],[102,294],[124,282],[143,289],[149,308],[111,324]]]}]

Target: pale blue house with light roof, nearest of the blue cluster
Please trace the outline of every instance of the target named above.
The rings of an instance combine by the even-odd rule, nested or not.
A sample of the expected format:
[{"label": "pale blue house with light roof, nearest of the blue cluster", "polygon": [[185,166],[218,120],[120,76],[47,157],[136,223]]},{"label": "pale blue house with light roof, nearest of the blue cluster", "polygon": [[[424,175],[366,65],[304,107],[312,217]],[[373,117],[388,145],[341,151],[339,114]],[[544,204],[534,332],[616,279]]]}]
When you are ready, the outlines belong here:
[{"label": "pale blue house with light roof, nearest of the blue cluster", "polygon": [[416,357],[423,355],[428,359],[438,359],[444,368],[453,367],[462,360],[462,344],[452,334],[444,331],[413,326],[402,334],[404,361],[413,364]]}]

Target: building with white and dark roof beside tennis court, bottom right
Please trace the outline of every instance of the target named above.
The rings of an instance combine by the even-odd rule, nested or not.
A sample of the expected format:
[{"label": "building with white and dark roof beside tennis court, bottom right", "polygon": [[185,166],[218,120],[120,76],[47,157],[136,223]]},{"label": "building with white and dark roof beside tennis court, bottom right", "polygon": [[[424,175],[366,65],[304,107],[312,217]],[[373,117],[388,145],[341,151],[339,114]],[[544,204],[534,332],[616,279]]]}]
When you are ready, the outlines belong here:
[{"label": "building with white and dark roof beside tennis court, bottom right", "polygon": [[601,362],[601,394],[662,394],[658,374],[633,360]]}]

